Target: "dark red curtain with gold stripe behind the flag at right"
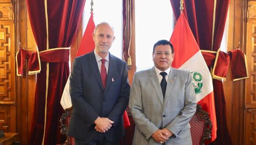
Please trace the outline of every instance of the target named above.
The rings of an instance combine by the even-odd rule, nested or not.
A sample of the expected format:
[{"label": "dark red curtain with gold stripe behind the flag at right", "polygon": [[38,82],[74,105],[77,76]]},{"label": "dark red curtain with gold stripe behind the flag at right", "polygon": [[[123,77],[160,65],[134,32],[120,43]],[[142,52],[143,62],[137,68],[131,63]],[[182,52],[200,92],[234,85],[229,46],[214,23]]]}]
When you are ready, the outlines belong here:
[{"label": "dark red curtain with gold stripe behind the flag at right", "polygon": [[[170,0],[170,2],[177,20],[180,15],[180,0]],[[230,0],[184,0],[184,14],[201,50],[218,51],[229,3]],[[207,62],[206,55],[204,58]],[[211,64],[211,62],[207,62],[207,65],[211,66]],[[222,82],[213,79],[213,86],[218,127],[217,138],[214,143],[231,145],[231,138],[226,125],[226,102]]]}]

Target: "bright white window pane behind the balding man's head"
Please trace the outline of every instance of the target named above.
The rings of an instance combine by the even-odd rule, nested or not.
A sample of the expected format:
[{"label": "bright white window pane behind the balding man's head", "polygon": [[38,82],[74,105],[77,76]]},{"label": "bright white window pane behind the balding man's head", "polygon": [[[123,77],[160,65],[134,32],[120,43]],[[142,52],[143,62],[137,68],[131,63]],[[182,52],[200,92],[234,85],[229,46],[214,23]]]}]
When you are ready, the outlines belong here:
[{"label": "bright white window pane behind the balding man's head", "polygon": [[[108,22],[114,27],[114,40],[109,52],[122,59],[123,52],[123,2],[122,0],[94,0],[94,23]],[[83,33],[90,18],[90,0],[83,9]]]}]

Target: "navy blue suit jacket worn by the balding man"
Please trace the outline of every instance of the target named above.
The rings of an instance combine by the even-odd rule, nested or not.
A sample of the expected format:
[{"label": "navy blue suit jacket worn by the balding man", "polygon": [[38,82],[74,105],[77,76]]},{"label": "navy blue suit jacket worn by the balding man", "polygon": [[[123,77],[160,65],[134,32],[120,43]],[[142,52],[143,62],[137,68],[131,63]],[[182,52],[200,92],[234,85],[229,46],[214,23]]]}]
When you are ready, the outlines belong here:
[{"label": "navy blue suit jacket worn by the balding man", "polygon": [[94,51],[74,59],[70,76],[73,105],[68,135],[82,141],[92,141],[98,133],[94,121],[98,116],[114,121],[104,133],[109,141],[124,135],[123,113],[129,101],[127,65],[109,53],[109,69],[105,90]]}]

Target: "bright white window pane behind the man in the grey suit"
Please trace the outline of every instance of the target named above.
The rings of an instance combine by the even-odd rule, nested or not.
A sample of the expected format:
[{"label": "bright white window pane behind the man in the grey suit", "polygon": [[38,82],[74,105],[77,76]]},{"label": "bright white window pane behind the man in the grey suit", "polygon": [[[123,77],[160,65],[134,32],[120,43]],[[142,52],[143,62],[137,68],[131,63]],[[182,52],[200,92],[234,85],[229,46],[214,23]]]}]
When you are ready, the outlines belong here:
[{"label": "bright white window pane behind the man in the grey suit", "polygon": [[173,28],[170,0],[135,0],[136,71],[154,66],[154,43],[162,39],[170,40]]}]

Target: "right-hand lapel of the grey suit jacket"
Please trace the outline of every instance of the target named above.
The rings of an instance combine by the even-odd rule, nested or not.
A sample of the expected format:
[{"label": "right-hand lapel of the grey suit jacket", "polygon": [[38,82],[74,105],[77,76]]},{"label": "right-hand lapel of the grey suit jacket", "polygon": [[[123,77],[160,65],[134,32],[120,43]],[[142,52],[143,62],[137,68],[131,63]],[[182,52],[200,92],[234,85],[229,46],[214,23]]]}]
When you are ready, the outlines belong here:
[{"label": "right-hand lapel of the grey suit jacket", "polygon": [[166,108],[166,104],[167,104],[169,98],[171,97],[170,94],[173,91],[173,85],[176,81],[175,75],[176,75],[176,73],[173,71],[173,68],[171,68],[171,70],[169,72],[167,86],[166,86],[166,96],[165,96],[165,100],[164,100],[163,109]]}]

